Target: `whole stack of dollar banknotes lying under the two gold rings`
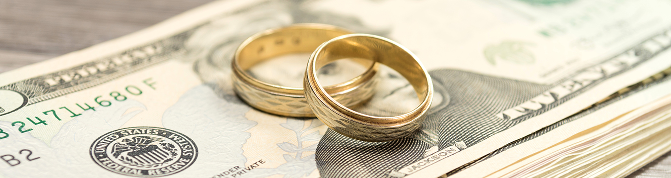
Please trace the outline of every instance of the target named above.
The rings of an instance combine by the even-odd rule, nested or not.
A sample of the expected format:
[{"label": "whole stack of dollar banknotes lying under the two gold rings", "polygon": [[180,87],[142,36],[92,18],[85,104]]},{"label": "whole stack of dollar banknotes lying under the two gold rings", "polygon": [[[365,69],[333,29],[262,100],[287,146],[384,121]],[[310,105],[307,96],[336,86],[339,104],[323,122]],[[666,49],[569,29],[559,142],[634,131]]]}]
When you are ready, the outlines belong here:
[{"label": "whole stack of dollar banknotes lying under the two gold rings", "polygon": [[[671,151],[671,1],[215,1],[0,74],[0,177],[625,177]],[[429,70],[411,137],[357,141],[255,110],[231,86],[247,37],[327,23]],[[307,56],[248,71],[301,86]],[[335,62],[321,82],[365,69]],[[419,102],[382,68],[380,116]],[[323,80],[322,80],[323,79]]]}]

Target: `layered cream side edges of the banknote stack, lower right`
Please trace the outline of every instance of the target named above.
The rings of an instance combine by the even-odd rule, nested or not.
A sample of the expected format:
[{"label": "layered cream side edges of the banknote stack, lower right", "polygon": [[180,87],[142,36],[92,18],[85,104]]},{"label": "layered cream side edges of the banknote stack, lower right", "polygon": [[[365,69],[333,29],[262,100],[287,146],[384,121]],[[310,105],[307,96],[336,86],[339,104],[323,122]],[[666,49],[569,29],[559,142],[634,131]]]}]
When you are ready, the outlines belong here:
[{"label": "layered cream side edges of the banknote stack, lower right", "polygon": [[658,133],[668,126],[668,74],[671,68],[448,175],[624,177],[668,151],[669,138]]}]

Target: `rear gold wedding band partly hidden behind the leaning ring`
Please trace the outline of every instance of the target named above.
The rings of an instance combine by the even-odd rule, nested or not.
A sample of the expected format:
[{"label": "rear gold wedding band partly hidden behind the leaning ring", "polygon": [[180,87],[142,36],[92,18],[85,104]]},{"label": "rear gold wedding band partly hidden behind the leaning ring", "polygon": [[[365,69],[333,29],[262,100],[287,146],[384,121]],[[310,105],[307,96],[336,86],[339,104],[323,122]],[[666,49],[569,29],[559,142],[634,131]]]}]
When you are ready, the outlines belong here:
[{"label": "rear gold wedding band partly hidden behind the leaning ring", "polygon": [[[262,82],[245,72],[252,66],[285,54],[311,53],[324,41],[352,33],[346,29],[322,24],[297,24],[270,29],[252,35],[240,45],[232,60],[234,90],[250,106],[281,116],[314,117],[307,106],[303,88]],[[369,60],[355,60],[367,66],[366,72],[346,82],[327,86],[325,92],[345,106],[355,106],[373,95],[378,65]]]}]

